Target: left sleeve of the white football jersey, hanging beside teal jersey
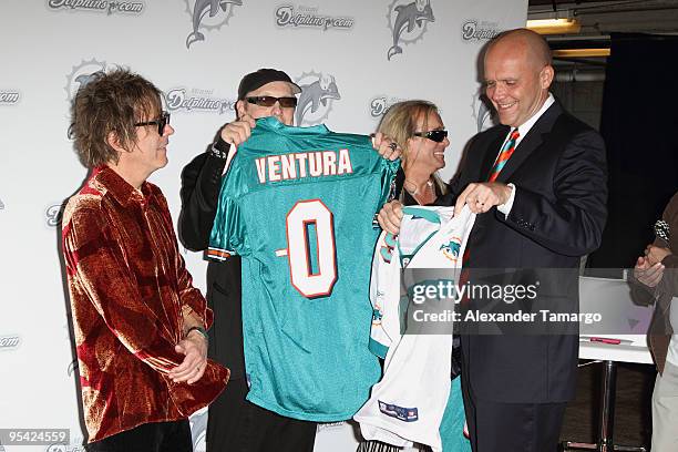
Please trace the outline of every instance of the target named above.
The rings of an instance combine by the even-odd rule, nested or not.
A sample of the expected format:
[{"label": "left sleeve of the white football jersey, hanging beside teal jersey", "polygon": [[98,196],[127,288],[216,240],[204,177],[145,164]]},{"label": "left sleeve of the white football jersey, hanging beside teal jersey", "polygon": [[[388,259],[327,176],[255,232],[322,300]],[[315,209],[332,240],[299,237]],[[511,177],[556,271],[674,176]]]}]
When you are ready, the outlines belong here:
[{"label": "left sleeve of the white football jersey, hanging beside teal jersey", "polygon": [[400,256],[396,238],[383,232],[379,236],[370,278],[372,328],[369,348],[386,359],[389,347],[400,338]]}]

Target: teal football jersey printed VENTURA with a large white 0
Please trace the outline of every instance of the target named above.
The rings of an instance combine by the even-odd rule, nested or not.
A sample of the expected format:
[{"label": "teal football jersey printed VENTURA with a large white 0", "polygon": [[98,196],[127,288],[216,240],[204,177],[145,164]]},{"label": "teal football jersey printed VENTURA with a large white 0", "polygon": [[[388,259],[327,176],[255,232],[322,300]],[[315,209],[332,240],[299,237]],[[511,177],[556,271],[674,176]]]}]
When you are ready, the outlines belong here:
[{"label": "teal football jersey printed VENTURA with a large white 0", "polygon": [[318,422],[351,418],[380,377],[369,278],[399,162],[368,136],[257,120],[228,163],[208,256],[243,256],[247,399]]}]

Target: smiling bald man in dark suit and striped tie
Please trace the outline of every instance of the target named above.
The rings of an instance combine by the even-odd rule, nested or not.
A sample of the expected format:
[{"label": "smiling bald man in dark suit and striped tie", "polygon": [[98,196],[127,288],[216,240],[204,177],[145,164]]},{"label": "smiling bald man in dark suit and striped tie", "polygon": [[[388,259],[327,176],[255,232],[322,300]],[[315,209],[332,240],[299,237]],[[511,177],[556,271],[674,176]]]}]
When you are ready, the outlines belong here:
[{"label": "smiling bald man in dark suit and striped tie", "polygon": [[[454,204],[458,212],[468,205],[479,214],[464,261],[471,278],[476,269],[485,275],[504,269],[495,280],[505,284],[515,279],[510,269],[535,269],[542,287],[526,309],[538,312],[555,298],[561,308],[577,312],[579,258],[599,246],[606,218],[605,151],[598,133],[548,92],[553,78],[551,52],[538,34],[512,30],[489,44],[484,81],[501,125],[473,138],[440,204]],[[379,214],[391,233],[401,217],[397,202]],[[544,271],[549,268],[569,270]],[[556,450],[565,405],[575,392],[576,322],[569,331],[462,331],[462,386],[474,452]]]}]

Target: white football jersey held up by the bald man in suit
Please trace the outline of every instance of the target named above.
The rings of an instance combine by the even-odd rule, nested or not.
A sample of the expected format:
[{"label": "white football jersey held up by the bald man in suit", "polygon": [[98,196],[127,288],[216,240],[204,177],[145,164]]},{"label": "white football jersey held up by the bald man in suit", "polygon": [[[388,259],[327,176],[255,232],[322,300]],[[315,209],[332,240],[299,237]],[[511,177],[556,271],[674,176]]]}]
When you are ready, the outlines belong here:
[{"label": "white football jersey held up by the bald man in suit", "polygon": [[418,333],[423,325],[410,322],[402,333],[408,282],[413,281],[401,282],[400,271],[448,269],[445,279],[459,280],[475,214],[466,206],[459,216],[453,214],[454,207],[403,207],[399,236],[382,233],[377,243],[370,282],[370,349],[386,356],[384,372],[353,417],[368,440],[398,446],[415,442],[442,450],[439,428],[450,393],[452,325],[446,333],[432,335]]}]

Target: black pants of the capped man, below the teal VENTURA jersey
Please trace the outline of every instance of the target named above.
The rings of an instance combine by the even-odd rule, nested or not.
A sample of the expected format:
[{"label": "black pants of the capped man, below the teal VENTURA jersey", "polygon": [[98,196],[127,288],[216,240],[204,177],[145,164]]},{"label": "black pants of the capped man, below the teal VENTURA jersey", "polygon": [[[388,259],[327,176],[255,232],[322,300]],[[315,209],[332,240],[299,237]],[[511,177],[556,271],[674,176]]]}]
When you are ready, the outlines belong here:
[{"label": "black pants of the capped man, below the teal VENTURA jersey", "polygon": [[316,423],[284,418],[245,400],[245,379],[230,380],[209,405],[207,452],[310,452]]}]

